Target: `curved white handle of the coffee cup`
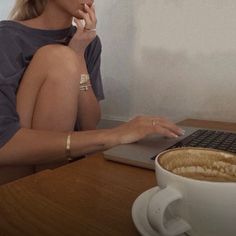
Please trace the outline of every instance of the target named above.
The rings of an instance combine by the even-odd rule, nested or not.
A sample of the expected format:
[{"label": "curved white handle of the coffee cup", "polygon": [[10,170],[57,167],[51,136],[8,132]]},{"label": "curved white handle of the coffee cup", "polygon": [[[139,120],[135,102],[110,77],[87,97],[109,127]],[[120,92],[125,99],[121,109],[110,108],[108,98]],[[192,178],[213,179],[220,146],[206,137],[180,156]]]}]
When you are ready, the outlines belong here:
[{"label": "curved white handle of the coffee cup", "polygon": [[191,226],[181,218],[165,222],[164,214],[167,207],[174,201],[182,199],[182,195],[171,187],[158,191],[151,199],[147,208],[147,218],[153,229],[164,236],[177,236],[191,229]]}]

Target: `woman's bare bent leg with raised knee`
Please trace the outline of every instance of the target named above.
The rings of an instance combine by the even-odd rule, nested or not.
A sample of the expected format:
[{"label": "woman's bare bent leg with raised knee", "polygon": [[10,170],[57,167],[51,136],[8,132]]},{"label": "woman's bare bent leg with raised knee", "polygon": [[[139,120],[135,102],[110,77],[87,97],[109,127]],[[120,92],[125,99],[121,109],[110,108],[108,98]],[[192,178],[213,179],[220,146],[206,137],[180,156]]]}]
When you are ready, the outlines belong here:
[{"label": "woman's bare bent leg with raised knee", "polygon": [[17,94],[21,126],[40,130],[73,130],[82,71],[84,68],[70,48],[50,45],[39,49]]}]

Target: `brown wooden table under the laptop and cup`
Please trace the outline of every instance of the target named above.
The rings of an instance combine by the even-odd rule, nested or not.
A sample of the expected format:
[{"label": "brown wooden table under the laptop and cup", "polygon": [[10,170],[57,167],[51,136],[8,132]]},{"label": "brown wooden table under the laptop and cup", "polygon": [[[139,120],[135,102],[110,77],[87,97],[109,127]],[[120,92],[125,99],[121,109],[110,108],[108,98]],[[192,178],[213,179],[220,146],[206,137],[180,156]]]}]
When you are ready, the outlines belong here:
[{"label": "brown wooden table under the laptop and cup", "polygon": [[[181,125],[236,131],[236,124],[188,119]],[[0,235],[139,235],[134,200],[155,173],[95,154],[0,187]]]}]

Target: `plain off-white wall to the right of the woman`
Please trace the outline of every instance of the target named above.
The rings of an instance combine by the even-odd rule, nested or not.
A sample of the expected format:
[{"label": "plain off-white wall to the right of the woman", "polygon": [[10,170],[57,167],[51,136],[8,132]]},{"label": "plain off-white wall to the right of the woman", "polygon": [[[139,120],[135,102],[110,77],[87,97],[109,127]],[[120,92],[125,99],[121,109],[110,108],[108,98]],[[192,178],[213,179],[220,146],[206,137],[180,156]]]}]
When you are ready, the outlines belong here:
[{"label": "plain off-white wall to the right of the woman", "polygon": [[236,121],[235,0],[102,0],[105,118]]}]

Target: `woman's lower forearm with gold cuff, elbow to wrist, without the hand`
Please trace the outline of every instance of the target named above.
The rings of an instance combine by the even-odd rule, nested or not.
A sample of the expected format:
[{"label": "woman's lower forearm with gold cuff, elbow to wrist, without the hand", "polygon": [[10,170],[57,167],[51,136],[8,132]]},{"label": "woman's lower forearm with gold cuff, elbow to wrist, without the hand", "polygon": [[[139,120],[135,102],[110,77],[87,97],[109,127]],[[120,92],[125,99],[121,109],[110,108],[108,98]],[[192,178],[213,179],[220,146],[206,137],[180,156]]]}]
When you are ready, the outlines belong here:
[{"label": "woman's lower forearm with gold cuff, elbow to wrist, without the hand", "polygon": [[[78,157],[116,144],[109,140],[111,130],[73,132],[71,155]],[[68,133],[20,129],[0,149],[0,166],[36,165],[66,160]]]}]

